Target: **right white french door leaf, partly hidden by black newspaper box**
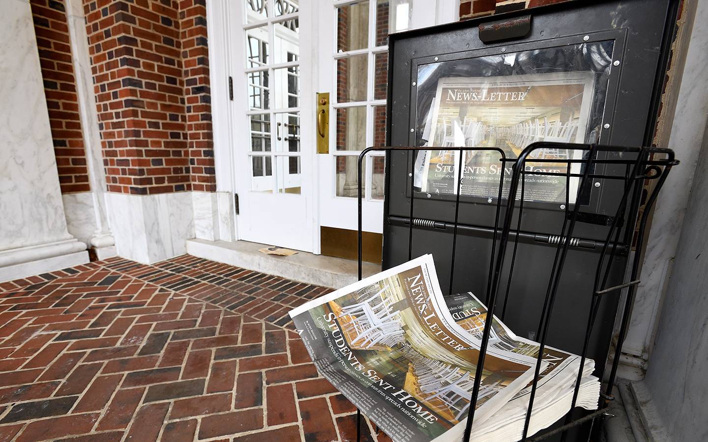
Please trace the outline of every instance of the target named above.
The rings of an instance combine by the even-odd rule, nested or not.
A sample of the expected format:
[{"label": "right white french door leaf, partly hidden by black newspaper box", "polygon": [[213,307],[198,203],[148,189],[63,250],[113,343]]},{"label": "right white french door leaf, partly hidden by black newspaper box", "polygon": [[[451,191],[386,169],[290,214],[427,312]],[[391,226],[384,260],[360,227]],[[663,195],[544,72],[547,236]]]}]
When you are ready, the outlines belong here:
[{"label": "right white french door leaf, partly hidden by black newspaper box", "polygon": [[[318,0],[317,92],[330,93],[329,154],[318,155],[321,226],[356,230],[358,157],[386,143],[388,34],[457,19],[456,0]],[[382,233],[383,152],[362,170],[364,231]]]}]

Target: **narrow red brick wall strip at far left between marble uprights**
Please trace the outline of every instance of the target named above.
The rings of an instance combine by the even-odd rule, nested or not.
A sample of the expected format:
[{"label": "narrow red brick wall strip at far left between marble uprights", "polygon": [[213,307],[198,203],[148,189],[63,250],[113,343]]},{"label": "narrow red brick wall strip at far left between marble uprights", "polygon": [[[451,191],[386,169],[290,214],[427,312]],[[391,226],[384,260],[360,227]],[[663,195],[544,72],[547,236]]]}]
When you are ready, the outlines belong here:
[{"label": "narrow red brick wall strip at far left between marble uprights", "polygon": [[30,0],[62,193],[87,192],[84,138],[64,3]]}]

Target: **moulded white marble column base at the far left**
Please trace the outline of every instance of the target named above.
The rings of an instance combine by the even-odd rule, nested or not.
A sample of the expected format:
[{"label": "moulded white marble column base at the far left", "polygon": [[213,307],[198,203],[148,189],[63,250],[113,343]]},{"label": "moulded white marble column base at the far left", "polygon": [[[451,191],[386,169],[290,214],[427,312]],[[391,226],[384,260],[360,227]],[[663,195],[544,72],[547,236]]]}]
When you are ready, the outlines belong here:
[{"label": "moulded white marble column base at the far left", "polygon": [[0,252],[0,281],[11,281],[89,262],[86,244],[72,239]]}]

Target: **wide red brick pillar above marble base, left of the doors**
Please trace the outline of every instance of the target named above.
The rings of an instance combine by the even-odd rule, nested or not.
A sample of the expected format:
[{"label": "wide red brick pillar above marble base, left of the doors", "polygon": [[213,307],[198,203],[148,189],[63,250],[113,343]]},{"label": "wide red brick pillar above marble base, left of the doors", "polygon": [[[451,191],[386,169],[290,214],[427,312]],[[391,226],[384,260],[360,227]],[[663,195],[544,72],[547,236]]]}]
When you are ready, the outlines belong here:
[{"label": "wide red brick pillar above marble base, left of the doors", "polygon": [[108,190],[215,190],[204,0],[84,0],[84,13]]}]

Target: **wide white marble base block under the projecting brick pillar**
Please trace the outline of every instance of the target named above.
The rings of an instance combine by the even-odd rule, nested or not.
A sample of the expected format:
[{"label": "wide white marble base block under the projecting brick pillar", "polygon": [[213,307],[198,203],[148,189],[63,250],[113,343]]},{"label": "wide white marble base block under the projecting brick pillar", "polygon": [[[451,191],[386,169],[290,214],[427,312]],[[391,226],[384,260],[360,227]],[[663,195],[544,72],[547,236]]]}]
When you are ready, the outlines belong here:
[{"label": "wide white marble base block under the projecting brick pillar", "polygon": [[151,264],[187,252],[194,238],[192,192],[156,195],[105,194],[118,255]]}]

